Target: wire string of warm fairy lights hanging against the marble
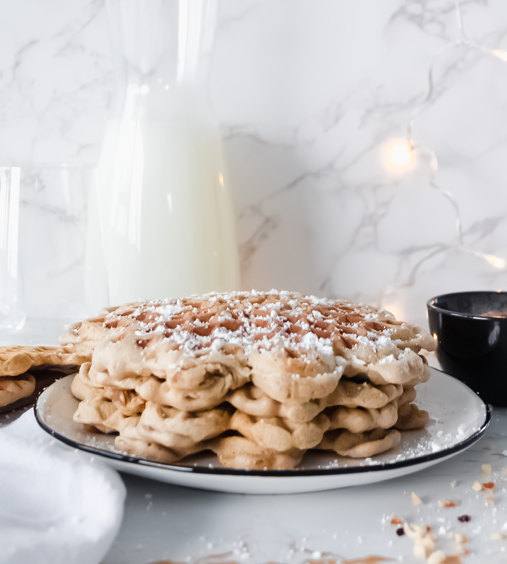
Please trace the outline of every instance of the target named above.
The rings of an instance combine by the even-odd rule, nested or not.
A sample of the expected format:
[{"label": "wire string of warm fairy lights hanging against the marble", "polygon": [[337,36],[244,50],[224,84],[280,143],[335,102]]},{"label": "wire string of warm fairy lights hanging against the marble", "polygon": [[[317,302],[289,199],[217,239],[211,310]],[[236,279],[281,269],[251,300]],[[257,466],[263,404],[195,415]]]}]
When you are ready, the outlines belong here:
[{"label": "wire string of warm fairy lights hanging against the marble", "polygon": [[[425,147],[424,145],[417,144],[413,140],[413,137],[412,137],[412,131],[413,131],[413,126],[414,126],[416,117],[422,111],[424,111],[424,109],[429,107],[431,105],[431,103],[433,102],[433,94],[434,94],[434,80],[433,80],[433,74],[434,73],[433,73],[433,69],[434,69],[434,65],[435,65],[436,61],[439,59],[440,55],[442,55],[442,53],[444,51],[448,50],[451,47],[465,46],[465,47],[469,47],[470,49],[475,49],[477,51],[481,51],[481,52],[488,54],[488,55],[493,55],[496,58],[507,62],[507,51],[503,51],[501,49],[488,49],[488,47],[484,47],[483,45],[479,45],[479,43],[475,43],[474,41],[471,41],[466,36],[465,28],[464,28],[464,25],[463,25],[463,17],[462,17],[462,13],[461,13],[460,0],[455,0],[455,12],[456,12],[457,26],[458,26],[458,30],[460,32],[460,37],[457,38],[457,39],[453,39],[453,41],[446,43],[446,45],[443,45],[442,47],[440,47],[437,54],[435,54],[433,60],[431,61],[430,68],[428,70],[428,90],[427,90],[426,97],[414,109],[414,111],[412,112],[412,115],[409,118],[408,123],[407,123],[407,141],[404,142],[404,143],[399,143],[399,144],[394,145],[393,148],[391,149],[391,152],[390,152],[390,158],[391,158],[391,161],[393,162],[393,164],[398,165],[398,166],[407,165],[412,160],[413,153],[415,153],[415,152],[420,152],[420,153],[424,154],[427,158],[429,158],[429,162],[430,162],[430,179],[429,179],[430,180],[430,186],[432,188],[435,188],[435,190],[438,190],[444,197],[446,197],[446,199],[452,205],[453,210],[455,211],[455,217],[456,217],[455,228],[456,228],[457,243],[451,244],[451,245],[446,245],[446,244],[433,245],[433,248],[431,249],[431,251],[428,254],[426,254],[425,257],[421,258],[420,261],[418,261],[416,263],[416,265],[412,268],[412,271],[410,272],[410,274],[408,276],[408,280],[403,284],[391,285],[391,286],[385,288],[382,292],[382,296],[385,295],[386,293],[392,292],[396,288],[405,288],[405,287],[413,286],[415,284],[417,271],[426,261],[429,261],[430,258],[434,257],[437,254],[447,252],[448,250],[451,250],[451,249],[456,249],[456,250],[460,250],[460,251],[465,252],[465,253],[474,254],[478,257],[483,258],[485,261],[490,263],[491,266],[498,268],[498,269],[505,268],[505,265],[506,265],[505,259],[503,259],[501,257],[496,257],[495,255],[492,255],[492,254],[486,254],[486,253],[480,252],[479,250],[476,250],[476,249],[472,249],[472,248],[465,245],[464,239],[463,239],[461,214],[460,214],[460,208],[459,208],[458,202],[457,202],[457,200],[456,200],[456,198],[455,198],[455,196],[453,195],[452,192],[450,192],[449,190],[446,190],[445,188],[439,186],[435,182],[435,175],[437,174],[437,170],[438,170],[437,155],[435,154],[433,149],[431,149],[430,147]],[[382,300],[382,296],[381,296],[381,300]]]}]

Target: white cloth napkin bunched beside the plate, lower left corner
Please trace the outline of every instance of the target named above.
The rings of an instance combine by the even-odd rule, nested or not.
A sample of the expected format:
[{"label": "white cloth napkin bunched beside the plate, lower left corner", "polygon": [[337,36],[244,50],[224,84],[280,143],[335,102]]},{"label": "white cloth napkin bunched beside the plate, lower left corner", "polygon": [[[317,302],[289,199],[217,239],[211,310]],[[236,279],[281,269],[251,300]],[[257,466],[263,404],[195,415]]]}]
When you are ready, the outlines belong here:
[{"label": "white cloth napkin bunched beside the plate, lower left corner", "polygon": [[125,493],[114,470],[52,439],[30,409],[0,429],[0,563],[98,564]]}]

